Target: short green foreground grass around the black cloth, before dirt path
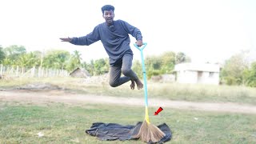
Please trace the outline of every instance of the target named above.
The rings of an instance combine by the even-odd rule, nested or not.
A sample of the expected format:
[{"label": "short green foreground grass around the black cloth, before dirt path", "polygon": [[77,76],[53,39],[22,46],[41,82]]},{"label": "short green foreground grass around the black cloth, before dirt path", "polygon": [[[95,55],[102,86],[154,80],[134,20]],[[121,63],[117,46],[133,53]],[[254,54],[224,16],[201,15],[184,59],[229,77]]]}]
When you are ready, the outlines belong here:
[{"label": "short green foreground grass around the black cloth, before dirt path", "polygon": [[[167,143],[256,143],[256,115],[164,109],[153,116],[154,111],[150,121],[165,122],[173,132]],[[135,125],[143,119],[143,107],[1,102],[0,143],[142,143],[102,142],[85,130],[93,122]],[[39,138],[39,132],[45,135]]]}]

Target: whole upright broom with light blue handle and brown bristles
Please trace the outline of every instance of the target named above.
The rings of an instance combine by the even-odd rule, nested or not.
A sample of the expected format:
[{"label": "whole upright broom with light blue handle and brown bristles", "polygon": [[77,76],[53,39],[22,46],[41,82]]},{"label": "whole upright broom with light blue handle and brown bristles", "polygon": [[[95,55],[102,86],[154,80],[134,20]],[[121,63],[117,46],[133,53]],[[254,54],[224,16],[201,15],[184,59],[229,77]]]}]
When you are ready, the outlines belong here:
[{"label": "whole upright broom with light blue handle and brown bristles", "polygon": [[159,142],[163,137],[166,136],[157,126],[150,124],[149,110],[148,110],[148,101],[147,101],[147,86],[146,86],[146,69],[144,64],[144,58],[142,50],[145,48],[147,43],[143,43],[143,46],[140,48],[134,43],[134,46],[140,50],[142,58],[142,71],[143,71],[143,80],[144,80],[144,94],[145,94],[145,119],[142,122],[142,126],[138,131],[137,135],[134,135],[133,138],[139,138],[143,142]]}]

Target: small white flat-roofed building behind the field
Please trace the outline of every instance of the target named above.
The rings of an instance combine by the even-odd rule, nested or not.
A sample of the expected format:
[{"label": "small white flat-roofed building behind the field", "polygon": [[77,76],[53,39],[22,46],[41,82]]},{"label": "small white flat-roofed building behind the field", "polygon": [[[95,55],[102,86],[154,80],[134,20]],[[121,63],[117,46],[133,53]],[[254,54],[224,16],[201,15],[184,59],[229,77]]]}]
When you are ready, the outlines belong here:
[{"label": "small white flat-roofed building behind the field", "polygon": [[180,63],[175,65],[178,83],[219,84],[220,66],[210,63]]}]

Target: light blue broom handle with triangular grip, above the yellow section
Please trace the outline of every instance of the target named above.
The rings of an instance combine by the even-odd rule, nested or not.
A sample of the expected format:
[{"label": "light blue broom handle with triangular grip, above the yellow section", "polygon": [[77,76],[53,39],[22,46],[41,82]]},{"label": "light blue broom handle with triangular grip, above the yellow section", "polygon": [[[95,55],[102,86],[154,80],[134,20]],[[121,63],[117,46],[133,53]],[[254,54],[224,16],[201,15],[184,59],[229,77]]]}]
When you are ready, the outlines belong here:
[{"label": "light blue broom handle with triangular grip, above the yellow section", "polygon": [[147,86],[146,86],[146,68],[145,68],[145,64],[144,64],[144,58],[143,58],[143,53],[142,50],[146,47],[147,43],[143,43],[143,45],[141,47],[138,47],[136,43],[134,43],[134,46],[140,50],[141,52],[141,58],[142,58],[142,72],[143,72],[143,80],[144,80],[144,94],[145,94],[145,105],[146,107],[148,106],[148,102],[147,102]]}]

